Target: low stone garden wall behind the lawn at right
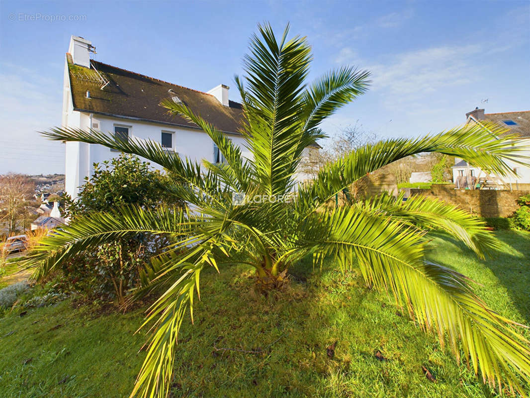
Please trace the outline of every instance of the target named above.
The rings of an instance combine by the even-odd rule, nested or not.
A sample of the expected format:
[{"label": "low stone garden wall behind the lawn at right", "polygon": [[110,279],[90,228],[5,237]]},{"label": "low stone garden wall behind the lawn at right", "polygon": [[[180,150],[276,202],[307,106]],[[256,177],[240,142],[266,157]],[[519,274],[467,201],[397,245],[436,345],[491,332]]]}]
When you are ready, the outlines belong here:
[{"label": "low stone garden wall behind the lawn at right", "polygon": [[508,217],[518,209],[517,199],[530,191],[455,189],[453,185],[432,184],[430,189],[411,188],[411,195],[436,197],[480,217]]}]

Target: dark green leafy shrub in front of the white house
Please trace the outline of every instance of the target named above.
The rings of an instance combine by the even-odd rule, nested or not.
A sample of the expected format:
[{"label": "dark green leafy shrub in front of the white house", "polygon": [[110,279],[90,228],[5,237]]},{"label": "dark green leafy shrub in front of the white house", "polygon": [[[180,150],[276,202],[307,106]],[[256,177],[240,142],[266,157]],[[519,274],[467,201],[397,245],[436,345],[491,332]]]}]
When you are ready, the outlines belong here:
[{"label": "dark green leafy shrub in front of the white house", "polygon": [[[162,186],[169,177],[152,170],[148,162],[135,155],[121,153],[103,165],[94,163],[94,174],[85,180],[76,200],[66,200],[65,213],[72,222],[86,213],[123,205],[152,211],[167,205]],[[174,198],[171,205],[176,204],[180,201]],[[136,287],[145,264],[163,243],[165,238],[142,232],[101,243],[95,250],[84,251],[63,264],[63,273],[68,277],[63,284],[68,290],[74,284],[89,295],[111,295],[122,306],[127,292]]]}]

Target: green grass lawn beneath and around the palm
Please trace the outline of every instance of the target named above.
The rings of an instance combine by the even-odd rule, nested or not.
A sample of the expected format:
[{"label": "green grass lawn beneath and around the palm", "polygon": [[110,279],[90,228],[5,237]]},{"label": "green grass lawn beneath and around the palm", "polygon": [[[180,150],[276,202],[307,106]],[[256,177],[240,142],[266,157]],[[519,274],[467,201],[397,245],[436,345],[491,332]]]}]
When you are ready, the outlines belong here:
[{"label": "green grass lawn beneath and around the palm", "polygon": [[[529,324],[530,233],[497,235],[502,252],[485,262],[441,237],[430,257],[479,282],[493,309]],[[496,396],[356,272],[292,271],[292,288],[276,301],[253,292],[243,267],[203,275],[195,325],[184,323],[176,349],[173,397]],[[140,311],[101,315],[70,301],[0,319],[0,396],[127,396],[144,358],[146,335],[133,335],[141,321]]]}]

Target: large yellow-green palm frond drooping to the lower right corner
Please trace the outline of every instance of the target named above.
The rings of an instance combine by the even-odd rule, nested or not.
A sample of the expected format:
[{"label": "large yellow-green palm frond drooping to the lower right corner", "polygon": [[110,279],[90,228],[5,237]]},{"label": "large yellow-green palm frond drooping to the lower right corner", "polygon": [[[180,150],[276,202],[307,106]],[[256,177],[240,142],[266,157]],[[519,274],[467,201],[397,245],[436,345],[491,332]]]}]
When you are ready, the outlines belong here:
[{"label": "large yellow-green palm frond drooping to the lower right corner", "polygon": [[423,234],[386,215],[355,207],[312,215],[301,226],[301,245],[315,258],[333,254],[339,265],[358,264],[366,283],[390,290],[423,328],[448,341],[460,361],[492,386],[506,383],[524,394],[530,382],[530,346],[507,318],[478,298],[467,278],[424,261]]}]

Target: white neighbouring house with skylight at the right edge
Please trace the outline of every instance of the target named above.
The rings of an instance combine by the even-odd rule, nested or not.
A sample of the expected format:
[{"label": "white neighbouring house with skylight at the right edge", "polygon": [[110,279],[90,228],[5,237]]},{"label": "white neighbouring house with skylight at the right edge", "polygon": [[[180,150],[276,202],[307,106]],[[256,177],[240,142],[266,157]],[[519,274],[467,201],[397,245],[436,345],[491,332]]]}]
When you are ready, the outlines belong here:
[{"label": "white neighbouring house with skylight at the right edge", "polygon": [[[485,114],[484,109],[475,108],[466,114],[467,123],[493,122],[509,128],[509,133],[518,135],[517,144],[530,146],[530,111],[503,112]],[[526,155],[530,156],[530,150]],[[473,188],[477,182],[493,189],[528,189],[530,188],[530,166],[507,161],[517,176],[500,177],[488,174],[478,167],[472,167],[462,159],[455,158],[453,181],[457,188]]]}]

